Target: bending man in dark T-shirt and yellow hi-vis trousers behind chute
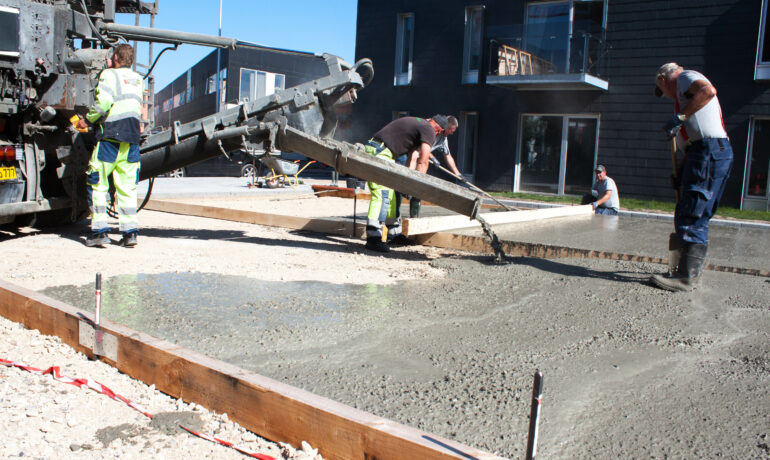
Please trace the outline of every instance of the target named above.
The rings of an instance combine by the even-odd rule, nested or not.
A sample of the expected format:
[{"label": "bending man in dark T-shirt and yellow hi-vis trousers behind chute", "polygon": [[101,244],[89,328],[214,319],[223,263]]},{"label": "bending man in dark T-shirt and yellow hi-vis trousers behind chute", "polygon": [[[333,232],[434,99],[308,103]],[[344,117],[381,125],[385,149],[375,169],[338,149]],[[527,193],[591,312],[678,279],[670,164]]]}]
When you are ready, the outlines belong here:
[{"label": "bending man in dark T-shirt and yellow hi-vis trousers behind chute", "polygon": [[[444,123],[444,126],[440,124]],[[413,151],[419,152],[417,170],[426,172],[430,161],[430,151],[436,140],[436,135],[447,128],[446,117],[424,119],[418,117],[402,117],[385,125],[369,139],[364,149],[370,155],[385,161],[395,161],[396,158]],[[383,242],[382,225],[388,228],[387,240],[392,245],[412,244],[412,240],[401,233],[401,211],[393,189],[369,182],[369,212],[366,219],[366,249],[378,252],[389,252],[390,246]]]}]

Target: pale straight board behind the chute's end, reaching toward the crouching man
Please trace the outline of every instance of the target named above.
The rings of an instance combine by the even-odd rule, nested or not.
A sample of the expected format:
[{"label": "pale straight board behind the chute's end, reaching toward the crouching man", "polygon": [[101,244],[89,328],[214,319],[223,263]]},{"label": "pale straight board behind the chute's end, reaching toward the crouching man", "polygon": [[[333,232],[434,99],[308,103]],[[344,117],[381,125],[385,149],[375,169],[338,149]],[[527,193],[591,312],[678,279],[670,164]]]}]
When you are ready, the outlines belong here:
[{"label": "pale straight board behind the chute's end, reaching toward the crouching man", "polygon": [[[591,205],[560,206],[557,208],[529,209],[525,211],[489,212],[480,216],[490,225],[512,224],[516,222],[529,222],[533,220],[550,219],[566,216],[588,216],[593,213]],[[405,235],[422,235],[447,230],[459,230],[464,228],[481,228],[477,220],[471,220],[466,216],[436,216],[421,217],[418,219],[404,219],[403,231]]]}]

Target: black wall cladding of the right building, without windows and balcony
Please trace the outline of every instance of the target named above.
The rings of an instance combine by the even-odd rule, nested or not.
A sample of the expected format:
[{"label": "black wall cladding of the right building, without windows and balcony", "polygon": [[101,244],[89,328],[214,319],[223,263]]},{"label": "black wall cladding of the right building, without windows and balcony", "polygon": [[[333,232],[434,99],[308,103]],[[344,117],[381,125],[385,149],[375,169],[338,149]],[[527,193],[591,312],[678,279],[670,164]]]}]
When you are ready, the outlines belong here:
[{"label": "black wall cladding of the right building, without windows and balcony", "polygon": [[[479,113],[476,182],[511,190],[520,115],[600,116],[598,161],[621,196],[673,199],[669,144],[661,126],[673,102],[652,95],[654,73],[668,61],[698,70],[716,86],[735,166],[724,203],[737,206],[743,184],[749,117],[770,115],[770,87],[754,81],[761,0],[612,0],[607,8],[607,91],[515,91],[461,84],[466,6],[484,5],[487,38],[521,24],[523,0],[359,0],[356,59],[374,61],[375,79],[354,106],[354,137],[366,140],[392,111],[430,116]],[[415,14],[412,85],[393,86],[396,18]],[[489,68],[488,47],[484,66]],[[450,147],[457,150],[457,135]]]}]

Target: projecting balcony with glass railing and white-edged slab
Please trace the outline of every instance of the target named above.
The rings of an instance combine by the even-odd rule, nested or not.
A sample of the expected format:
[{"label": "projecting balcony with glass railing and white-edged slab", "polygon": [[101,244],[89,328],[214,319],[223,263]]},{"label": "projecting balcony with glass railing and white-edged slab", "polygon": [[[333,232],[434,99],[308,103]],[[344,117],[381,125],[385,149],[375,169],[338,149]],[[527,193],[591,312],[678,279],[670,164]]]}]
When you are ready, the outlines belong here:
[{"label": "projecting balcony with glass railing and white-edged slab", "polygon": [[602,90],[606,41],[587,33],[501,37],[489,41],[487,84],[516,90]]}]

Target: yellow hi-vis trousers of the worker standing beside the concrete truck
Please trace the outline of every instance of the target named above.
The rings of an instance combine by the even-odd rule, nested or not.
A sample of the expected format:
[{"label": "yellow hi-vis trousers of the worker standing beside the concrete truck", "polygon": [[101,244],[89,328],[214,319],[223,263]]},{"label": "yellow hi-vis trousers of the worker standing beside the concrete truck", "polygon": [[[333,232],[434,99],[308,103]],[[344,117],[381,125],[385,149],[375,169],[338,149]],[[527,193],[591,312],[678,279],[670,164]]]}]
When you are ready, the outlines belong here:
[{"label": "yellow hi-vis trousers of the worker standing beside the concrete truck", "polygon": [[96,144],[88,162],[86,178],[93,233],[109,230],[107,205],[110,203],[110,176],[115,185],[120,232],[125,234],[138,230],[136,184],[139,182],[139,158],[138,144],[105,139]]}]

